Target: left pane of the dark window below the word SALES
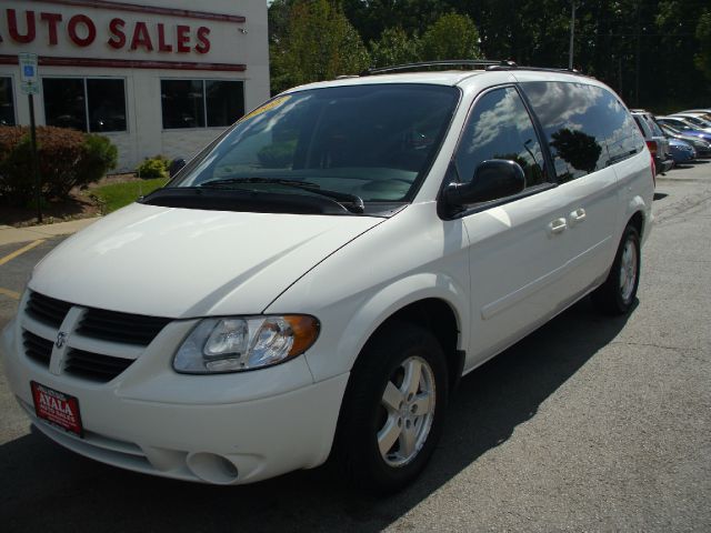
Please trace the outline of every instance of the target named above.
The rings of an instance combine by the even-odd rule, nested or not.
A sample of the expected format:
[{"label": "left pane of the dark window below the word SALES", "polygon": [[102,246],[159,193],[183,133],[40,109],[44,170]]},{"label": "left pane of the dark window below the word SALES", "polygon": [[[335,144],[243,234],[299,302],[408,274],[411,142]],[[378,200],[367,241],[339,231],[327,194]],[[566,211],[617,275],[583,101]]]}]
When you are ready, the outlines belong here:
[{"label": "left pane of the dark window below the word SALES", "polygon": [[162,80],[163,128],[204,128],[202,80]]}]

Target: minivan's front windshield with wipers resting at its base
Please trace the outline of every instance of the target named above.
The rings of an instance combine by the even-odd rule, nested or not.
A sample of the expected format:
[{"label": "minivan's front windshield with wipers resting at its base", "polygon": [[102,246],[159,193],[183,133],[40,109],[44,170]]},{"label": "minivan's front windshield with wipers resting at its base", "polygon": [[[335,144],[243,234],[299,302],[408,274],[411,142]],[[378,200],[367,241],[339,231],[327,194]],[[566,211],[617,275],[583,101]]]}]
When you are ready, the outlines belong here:
[{"label": "minivan's front windshield with wipers resting at its base", "polygon": [[240,120],[169,187],[318,189],[364,202],[409,201],[458,101],[452,87],[394,83],[278,97]]}]

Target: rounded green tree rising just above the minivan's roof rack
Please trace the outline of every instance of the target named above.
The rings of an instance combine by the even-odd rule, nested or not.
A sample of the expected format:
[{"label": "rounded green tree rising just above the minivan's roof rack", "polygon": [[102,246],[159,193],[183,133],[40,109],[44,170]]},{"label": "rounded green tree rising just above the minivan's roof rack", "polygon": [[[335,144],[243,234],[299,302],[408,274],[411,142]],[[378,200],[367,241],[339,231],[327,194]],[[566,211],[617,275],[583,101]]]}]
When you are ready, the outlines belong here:
[{"label": "rounded green tree rising just above the minivan's roof rack", "polygon": [[479,59],[479,31],[465,14],[440,17],[422,37],[422,59]]}]

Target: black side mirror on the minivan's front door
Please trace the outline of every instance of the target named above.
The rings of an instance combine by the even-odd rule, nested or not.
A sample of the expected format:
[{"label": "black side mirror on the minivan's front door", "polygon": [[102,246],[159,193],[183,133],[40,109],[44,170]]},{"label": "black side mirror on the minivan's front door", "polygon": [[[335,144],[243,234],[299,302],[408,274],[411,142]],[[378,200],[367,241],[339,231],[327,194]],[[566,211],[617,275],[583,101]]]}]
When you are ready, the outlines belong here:
[{"label": "black side mirror on the minivan's front door", "polygon": [[444,200],[450,208],[489,202],[510,197],[525,189],[525,174],[515,161],[490,159],[482,161],[469,183],[450,183]]}]

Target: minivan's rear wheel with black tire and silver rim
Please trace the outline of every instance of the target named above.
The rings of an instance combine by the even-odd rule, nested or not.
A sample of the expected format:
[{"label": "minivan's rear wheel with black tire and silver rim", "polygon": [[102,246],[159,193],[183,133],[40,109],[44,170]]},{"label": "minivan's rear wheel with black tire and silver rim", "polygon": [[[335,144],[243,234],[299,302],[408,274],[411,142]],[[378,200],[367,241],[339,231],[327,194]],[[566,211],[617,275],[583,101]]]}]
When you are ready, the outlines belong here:
[{"label": "minivan's rear wheel with black tire and silver rim", "polygon": [[632,225],[622,233],[605,282],[592,293],[595,308],[605,314],[624,314],[632,309],[640,283],[640,234]]}]

